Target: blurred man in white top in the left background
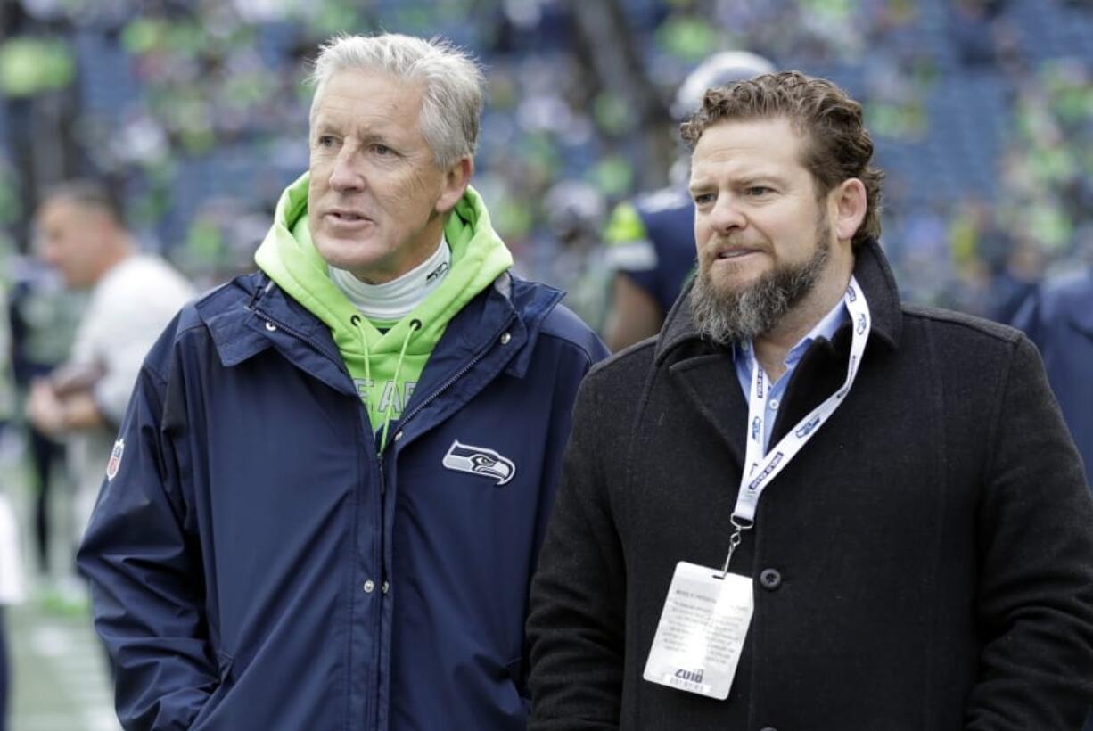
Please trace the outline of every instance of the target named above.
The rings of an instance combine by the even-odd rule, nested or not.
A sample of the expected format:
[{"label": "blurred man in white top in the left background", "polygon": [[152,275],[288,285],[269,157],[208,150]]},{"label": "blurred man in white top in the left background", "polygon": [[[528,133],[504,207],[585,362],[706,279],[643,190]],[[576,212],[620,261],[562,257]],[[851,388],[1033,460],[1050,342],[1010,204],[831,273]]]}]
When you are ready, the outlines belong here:
[{"label": "blurred man in white top in the left background", "polygon": [[42,260],[67,286],[90,291],[68,362],[35,379],[26,400],[34,428],[66,440],[78,541],[141,362],[193,291],[162,258],[139,251],[103,182],[72,180],[47,191],[35,224]]}]

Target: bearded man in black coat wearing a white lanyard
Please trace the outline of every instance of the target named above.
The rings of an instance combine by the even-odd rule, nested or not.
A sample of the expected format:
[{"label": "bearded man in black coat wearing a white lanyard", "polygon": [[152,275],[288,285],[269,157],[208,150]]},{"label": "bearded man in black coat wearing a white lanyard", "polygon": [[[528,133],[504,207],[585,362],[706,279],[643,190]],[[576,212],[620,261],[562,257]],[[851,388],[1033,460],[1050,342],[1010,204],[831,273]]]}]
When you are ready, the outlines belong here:
[{"label": "bearded man in black coat wearing a white lanyard", "polygon": [[1093,503],[1019,332],[903,306],[861,107],[707,92],[698,274],[578,396],[532,731],[1080,729]]}]

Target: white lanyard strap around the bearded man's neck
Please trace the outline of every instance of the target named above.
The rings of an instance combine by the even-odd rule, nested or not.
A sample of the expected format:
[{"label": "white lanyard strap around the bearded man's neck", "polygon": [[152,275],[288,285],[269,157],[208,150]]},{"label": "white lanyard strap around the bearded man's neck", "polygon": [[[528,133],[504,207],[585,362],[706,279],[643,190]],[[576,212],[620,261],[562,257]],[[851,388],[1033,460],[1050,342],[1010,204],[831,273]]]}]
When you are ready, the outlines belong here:
[{"label": "white lanyard strap around the bearded man's neck", "polygon": [[755,359],[755,349],[749,349],[752,366],[751,393],[748,398],[748,449],[744,456],[744,471],[740,476],[740,491],[737,495],[737,507],[732,511],[732,527],[736,529],[729,538],[729,555],[725,559],[721,573],[729,570],[729,562],[732,561],[732,552],[740,545],[741,533],[755,524],[755,509],[759,507],[759,499],[763,491],[784,469],[790,460],[797,456],[809,439],[819,431],[820,426],[831,418],[835,410],[843,403],[846,394],[854,386],[854,379],[858,375],[858,366],[861,364],[861,356],[866,352],[866,343],[869,340],[869,331],[872,329],[872,318],[869,314],[869,304],[866,295],[861,291],[858,281],[850,278],[850,284],[846,288],[843,303],[850,313],[850,323],[854,328],[854,339],[850,343],[850,361],[846,367],[846,380],[842,388],[828,396],[823,403],[813,409],[801,421],[797,422],[773,448],[763,453],[764,418],[766,415],[766,400],[769,396],[771,385],[763,373],[762,366]]}]

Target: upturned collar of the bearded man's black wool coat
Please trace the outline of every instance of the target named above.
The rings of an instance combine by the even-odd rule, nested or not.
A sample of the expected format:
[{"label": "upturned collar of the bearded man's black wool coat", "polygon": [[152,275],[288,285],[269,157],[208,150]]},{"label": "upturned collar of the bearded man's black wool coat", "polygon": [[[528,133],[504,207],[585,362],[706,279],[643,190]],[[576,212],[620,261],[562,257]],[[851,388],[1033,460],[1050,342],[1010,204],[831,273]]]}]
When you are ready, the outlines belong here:
[{"label": "upturned collar of the bearded man's black wool coat", "polygon": [[[875,339],[890,347],[897,347],[903,329],[900,292],[892,269],[889,267],[888,258],[874,239],[867,239],[856,252],[854,275],[857,278],[858,284],[861,285],[869,303],[869,311],[873,320],[870,341]],[[672,309],[665,320],[665,326],[660,330],[660,335],[657,338],[657,364],[661,364],[672,351],[693,341],[705,342],[695,329],[694,320],[691,317],[691,284],[687,284],[675,304],[672,305]]]}]

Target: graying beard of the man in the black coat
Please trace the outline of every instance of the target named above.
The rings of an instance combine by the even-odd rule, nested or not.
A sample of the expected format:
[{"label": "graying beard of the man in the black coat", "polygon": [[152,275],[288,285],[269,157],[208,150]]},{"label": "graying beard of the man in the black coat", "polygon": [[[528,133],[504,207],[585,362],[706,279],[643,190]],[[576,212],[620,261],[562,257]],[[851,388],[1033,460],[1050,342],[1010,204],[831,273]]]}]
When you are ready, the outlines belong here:
[{"label": "graying beard of the man in the black coat", "polygon": [[698,333],[720,345],[754,340],[769,332],[812,291],[831,252],[826,232],[818,231],[812,258],[800,264],[778,267],[742,290],[721,292],[708,267],[698,268],[691,290],[691,317]]}]

